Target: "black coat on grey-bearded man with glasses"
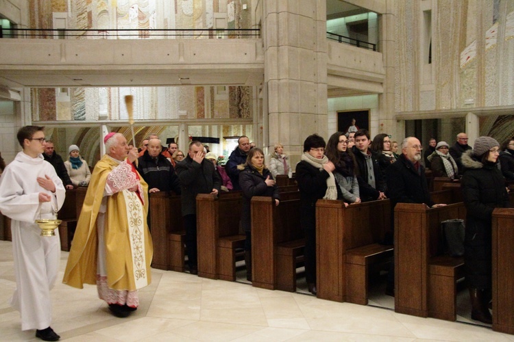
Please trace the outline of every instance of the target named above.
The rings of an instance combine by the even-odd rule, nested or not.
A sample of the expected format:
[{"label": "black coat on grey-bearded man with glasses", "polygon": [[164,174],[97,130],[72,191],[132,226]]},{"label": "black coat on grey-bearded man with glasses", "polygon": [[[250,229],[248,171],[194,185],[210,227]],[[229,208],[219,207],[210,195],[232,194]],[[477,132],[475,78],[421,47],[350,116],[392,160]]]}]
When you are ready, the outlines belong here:
[{"label": "black coat on grey-bearded man with glasses", "polygon": [[425,203],[432,207],[434,202],[430,199],[426,183],[425,168],[419,165],[419,173],[413,163],[400,157],[386,170],[387,197],[391,198],[391,209],[396,203]]}]

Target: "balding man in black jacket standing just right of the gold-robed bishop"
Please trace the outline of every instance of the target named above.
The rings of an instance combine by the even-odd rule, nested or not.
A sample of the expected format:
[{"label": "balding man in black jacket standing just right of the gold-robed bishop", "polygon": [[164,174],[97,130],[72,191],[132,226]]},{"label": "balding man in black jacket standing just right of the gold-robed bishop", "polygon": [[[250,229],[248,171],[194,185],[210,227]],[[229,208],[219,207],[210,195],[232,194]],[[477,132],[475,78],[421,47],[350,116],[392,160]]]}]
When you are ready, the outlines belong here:
[{"label": "balding man in black jacket standing just right of the gold-robed bishop", "polygon": [[160,150],[160,140],[149,140],[145,153],[138,158],[138,172],[148,183],[150,194],[173,191],[180,195],[180,183],[175,169]]}]

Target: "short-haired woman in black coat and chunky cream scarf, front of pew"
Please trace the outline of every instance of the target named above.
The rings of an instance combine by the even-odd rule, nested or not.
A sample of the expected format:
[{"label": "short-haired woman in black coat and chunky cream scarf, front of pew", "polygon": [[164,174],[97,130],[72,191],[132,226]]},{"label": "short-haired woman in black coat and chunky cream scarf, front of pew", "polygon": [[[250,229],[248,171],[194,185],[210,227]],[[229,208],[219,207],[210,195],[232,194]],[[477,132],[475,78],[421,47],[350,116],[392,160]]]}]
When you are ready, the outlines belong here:
[{"label": "short-haired woman in black coat and chunky cream scarf, front of pew", "polygon": [[296,181],[300,192],[300,222],[305,232],[305,278],[310,293],[316,294],[316,201],[342,199],[334,174],[334,163],[323,155],[325,140],[317,134],[304,142],[302,161],[296,166]]}]

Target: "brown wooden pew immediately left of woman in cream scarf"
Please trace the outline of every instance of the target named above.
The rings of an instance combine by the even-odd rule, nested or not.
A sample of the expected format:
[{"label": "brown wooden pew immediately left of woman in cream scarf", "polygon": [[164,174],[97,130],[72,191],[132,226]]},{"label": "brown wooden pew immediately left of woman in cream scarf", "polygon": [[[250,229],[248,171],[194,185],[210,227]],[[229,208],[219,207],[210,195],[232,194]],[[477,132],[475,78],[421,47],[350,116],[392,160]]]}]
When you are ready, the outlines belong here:
[{"label": "brown wooden pew immediately left of woman in cream scarf", "polygon": [[297,259],[303,256],[304,232],[299,220],[299,192],[252,198],[252,285],[296,291]]}]

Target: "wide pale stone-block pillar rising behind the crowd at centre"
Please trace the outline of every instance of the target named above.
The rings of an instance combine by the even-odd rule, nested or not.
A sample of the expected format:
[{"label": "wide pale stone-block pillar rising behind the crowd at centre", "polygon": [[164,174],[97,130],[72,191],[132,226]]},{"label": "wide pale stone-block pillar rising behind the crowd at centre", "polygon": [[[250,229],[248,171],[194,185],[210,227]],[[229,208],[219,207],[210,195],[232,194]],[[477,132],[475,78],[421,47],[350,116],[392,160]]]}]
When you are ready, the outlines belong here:
[{"label": "wide pale stone-block pillar rising behind the crowd at centre", "polygon": [[265,144],[284,144],[294,166],[308,135],[328,138],[326,2],[262,3],[268,109],[263,121],[269,133]]}]

